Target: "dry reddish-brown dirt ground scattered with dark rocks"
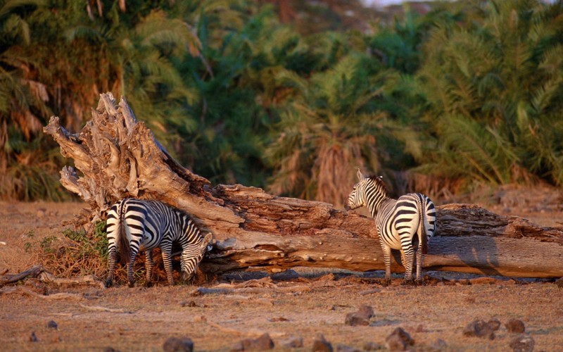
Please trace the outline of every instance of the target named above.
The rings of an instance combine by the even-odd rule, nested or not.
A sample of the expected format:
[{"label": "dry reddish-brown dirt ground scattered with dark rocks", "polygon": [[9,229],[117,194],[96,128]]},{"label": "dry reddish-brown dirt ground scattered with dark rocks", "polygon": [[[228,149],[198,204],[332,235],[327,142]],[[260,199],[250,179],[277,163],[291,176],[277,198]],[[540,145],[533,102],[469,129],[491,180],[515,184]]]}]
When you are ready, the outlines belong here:
[{"label": "dry reddish-brown dirt ground scattered with dark rocks", "polygon": [[[63,237],[68,226],[61,220],[71,220],[82,207],[0,202],[0,275],[39,263],[25,251],[29,235]],[[523,215],[541,225],[563,220],[561,208],[531,210]],[[563,289],[554,282],[429,274],[424,287],[400,286],[399,276],[391,287],[382,287],[381,272],[301,269],[274,277],[234,273],[198,286],[159,282],[151,288],[24,279],[0,288],[0,350],[163,351],[170,337],[189,337],[196,351],[230,351],[243,339],[268,333],[277,350],[301,337],[302,347],[293,350],[311,351],[322,334],[334,351],[361,351],[369,343],[386,349],[386,337],[402,327],[415,340],[410,346],[415,351],[512,351],[516,335],[505,323],[519,319],[535,351],[563,351]],[[370,324],[346,325],[346,315],[362,305],[374,310]],[[470,322],[492,318],[501,322],[494,339],[464,336]],[[56,327],[49,327],[51,320]]]}]

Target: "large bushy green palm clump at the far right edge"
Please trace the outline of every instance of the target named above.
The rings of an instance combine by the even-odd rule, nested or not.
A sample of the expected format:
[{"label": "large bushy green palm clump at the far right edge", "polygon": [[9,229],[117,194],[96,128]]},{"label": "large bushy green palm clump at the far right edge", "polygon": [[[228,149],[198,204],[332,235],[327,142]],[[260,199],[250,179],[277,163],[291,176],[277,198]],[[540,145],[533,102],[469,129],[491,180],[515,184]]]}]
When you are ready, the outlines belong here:
[{"label": "large bushy green palm clump at the far right edge", "polygon": [[563,184],[562,1],[488,1],[438,25],[418,77],[437,153],[426,167],[468,183]]}]

